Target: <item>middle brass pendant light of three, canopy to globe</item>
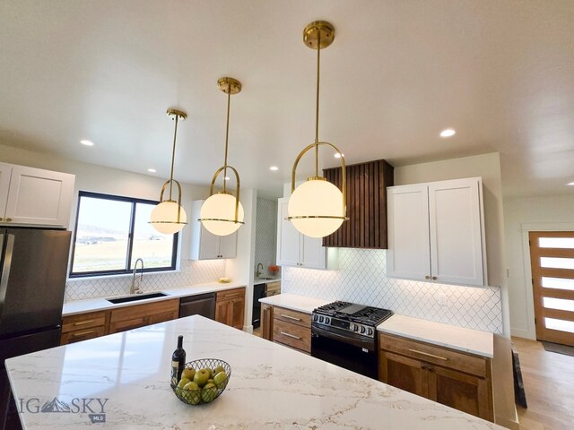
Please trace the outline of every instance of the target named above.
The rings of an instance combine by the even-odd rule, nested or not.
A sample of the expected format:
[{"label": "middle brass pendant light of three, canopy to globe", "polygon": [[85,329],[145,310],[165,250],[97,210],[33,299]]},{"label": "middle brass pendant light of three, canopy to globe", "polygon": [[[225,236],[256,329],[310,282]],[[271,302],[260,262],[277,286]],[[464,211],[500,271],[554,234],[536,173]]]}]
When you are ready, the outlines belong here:
[{"label": "middle brass pendant light of three, canopy to globe", "polygon": [[[227,150],[230,135],[230,99],[232,94],[241,90],[241,82],[233,78],[222,78],[217,81],[217,86],[227,94],[227,126],[225,129],[225,159],[223,166],[218,168],[213,175],[212,185],[209,190],[209,198],[204,202],[200,211],[199,220],[208,231],[216,236],[228,236],[236,231],[243,222],[243,206],[239,202],[239,173],[227,164]],[[235,197],[227,191],[227,169],[235,174],[236,188]],[[213,187],[217,176],[223,172],[223,191],[213,193]]]}]

